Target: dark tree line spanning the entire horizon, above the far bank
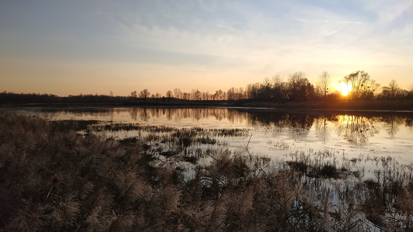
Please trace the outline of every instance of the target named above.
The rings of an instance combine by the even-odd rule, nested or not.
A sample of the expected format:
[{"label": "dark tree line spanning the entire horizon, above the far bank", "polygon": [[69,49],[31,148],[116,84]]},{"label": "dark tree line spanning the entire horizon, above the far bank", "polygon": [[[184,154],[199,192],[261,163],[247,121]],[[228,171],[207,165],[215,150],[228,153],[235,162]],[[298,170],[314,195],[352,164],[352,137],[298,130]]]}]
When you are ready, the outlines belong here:
[{"label": "dark tree line spanning the entire horizon, above the far bank", "polygon": [[[333,86],[333,84],[335,86]],[[392,79],[387,86],[380,88],[366,71],[356,71],[344,76],[338,83],[332,83],[330,74],[324,71],[318,76],[317,82],[310,83],[306,73],[297,71],[283,80],[280,75],[264,78],[262,82],[250,83],[245,87],[231,87],[226,91],[221,89],[215,92],[192,89],[182,92],[180,88],[166,91],[165,95],[159,92],[151,94],[144,89],[140,92],[132,91],[128,96],[110,95],[57,95],[31,93],[16,94],[4,91],[0,93],[1,104],[24,103],[107,103],[107,104],[134,104],[136,102],[190,102],[190,101],[255,101],[255,102],[305,102],[305,101],[364,101],[373,99],[409,100],[413,99],[413,88],[404,90],[396,80]]]}]

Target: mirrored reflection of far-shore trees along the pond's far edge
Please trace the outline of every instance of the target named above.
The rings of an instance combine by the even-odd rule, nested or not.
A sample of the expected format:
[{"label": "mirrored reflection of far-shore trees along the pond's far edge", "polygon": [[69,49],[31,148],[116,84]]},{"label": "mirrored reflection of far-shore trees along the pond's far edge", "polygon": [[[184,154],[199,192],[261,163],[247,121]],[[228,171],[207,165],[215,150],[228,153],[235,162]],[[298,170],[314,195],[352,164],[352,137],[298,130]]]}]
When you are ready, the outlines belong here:
[{"label": "mirrored reflection of far-shore trees along the pond's far edge", "polygon": [[[353,112],[337,114],[315,111],[306,114],[263,109],[226,108],[70,108],[26,109],[29,113],[41,113],[53,119],[98,119],[114,121],[138,121],[176,126],[254,127],[289,138],[305,137],[314,130],[317,139],[328,143],[332,133],[345,141],[363,144],[384,129],[390,138],[396,137],[400,126],[412,131],[413,114],[407,112]],[[23,111],[19,108],[19,111]],[[406,135],[404,135],[406,136]],[[411,135],[410,135],[411,136]]]}]

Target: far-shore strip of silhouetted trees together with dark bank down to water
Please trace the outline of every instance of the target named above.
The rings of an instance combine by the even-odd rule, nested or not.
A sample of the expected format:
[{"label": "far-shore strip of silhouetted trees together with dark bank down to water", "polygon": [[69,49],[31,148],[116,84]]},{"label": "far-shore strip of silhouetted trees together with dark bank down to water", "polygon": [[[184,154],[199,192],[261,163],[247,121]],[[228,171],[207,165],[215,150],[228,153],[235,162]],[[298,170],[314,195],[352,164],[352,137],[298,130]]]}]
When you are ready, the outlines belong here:
[{"label": "far-shore strip of silhouetted trees together with dark bank down to water", "polygon": [[[379,101],[380,100],[380,101]],[[364,103],[369,101],[368,103]],[[379,102],[376,102],[379,101]],[[397,101],[397,103],[395,102]],[[406,101],[409,101],[406,103]],[[302,104],[301,102],[304,102]],[[311,102],[311,103],[307,103]],[[391,103],[389,103],[391,102]],[[59,105],[200,105],[200,106],[273,106],[304,109],[413,109],[413,88],[405,90],[392,79],[381,87],[365,71],[356,71],[344,76],[338,83],[331,83],[330,74],[323,72],[315,85],[304,72],[295,72],[286,81],[280,75],[264,78],[262,83],[251,83],[245,88],[221,89],[215,93],[192,89],[182,92],[180,88],[168,90],[165,95],[152,94],[144,89],[132,91],[128,96],[68,95],[0,93],[0,104],[59,104]],[[336,106],[336,104],[340,106]],[[383,104],[384,103],[384,104]]]}]

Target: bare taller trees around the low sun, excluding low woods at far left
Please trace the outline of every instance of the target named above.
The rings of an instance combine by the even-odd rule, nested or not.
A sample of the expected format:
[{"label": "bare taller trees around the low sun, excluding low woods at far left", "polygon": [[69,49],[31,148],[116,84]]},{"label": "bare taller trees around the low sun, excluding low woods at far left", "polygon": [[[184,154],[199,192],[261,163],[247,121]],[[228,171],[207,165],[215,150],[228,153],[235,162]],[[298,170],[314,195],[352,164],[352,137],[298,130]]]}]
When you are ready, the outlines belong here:
[{"label": "bare taller trees around the low sun, excluding low woods at far left", "polygon": [[[168,99],[173,97],[188,101],[253,99],[265,102],[394,100],[412,99],[413,97],[413,88],[410,90],[401,89],[394,79],[390,81],[388,86],[380,88],[380,84],[376,83],[366,71],[350,73],[335,84],[338,87],[332,86],[330,74],[327,71],[323,71],[318,76],[315,86],[310,83],[306,73],[298,71],[288,75],[287,81],[284,81],[280,75],[275,75],[271,79],[264,78],[262,82],[250,83],[245,88],[231,87],[227,91],[219,89],[213,93],[202,92],[199,89],[182,92],[180,88],[174,88],[173,91],[168,90],[165,95]],[[344,92],[341,92],[341,88],[347,88],[347,90],[343,90],[347,92],[345,96],[343,96]],[[145,100],[149,96],[150,92],[147,89],[140,91],[139,94],[133,91],[129,95],[129,97],[140,97]],[[152,95],[152,98],[159,96],[160,94],[157,93],[157,95]]]}]

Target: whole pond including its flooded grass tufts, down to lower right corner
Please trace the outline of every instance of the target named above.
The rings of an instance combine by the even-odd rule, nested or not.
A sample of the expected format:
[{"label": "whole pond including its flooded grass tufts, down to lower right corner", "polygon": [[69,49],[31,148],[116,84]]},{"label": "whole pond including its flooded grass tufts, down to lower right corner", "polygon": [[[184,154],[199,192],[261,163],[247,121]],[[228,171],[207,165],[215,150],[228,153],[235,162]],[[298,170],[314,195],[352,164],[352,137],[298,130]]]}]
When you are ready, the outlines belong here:
[{"label": "whole pond including its flooded grass tufts, down to lower right corner", "polygon": [[[191,189],[188,186],[195,186],[193,181],[197,181],[195,183],[202,186],[200,189],[204,189],[199,194],[202,197],[211,193],[223,196],[234,183],[242,183],[235,185],[236,191],[240,187],[255,189],[252,186],[266,183],[262,185],[266,190],[258,191],[274,199],[268,199],[268,202],[281,205],[280,201],[287,202],[295,198],[288,206],[292,207],[288,209],[289,212],[296,212],[297,209],[307,211],[299,204],[309,202],[316,212],[311,214],[317,217],[330,215],[328,225],[337,231],[344,230],[342,226],[347,228],[347,225],[354,226],[357,223],[357,231],[378,232],[384,231],[383,228],[396,227],[407,231],[413,220],[410,207],[413,186],[411,111],[301,111],[224,107],[25,107],[9,108],[9,111],[52,120],[44,124],[46,130],[41,130],[47,133],[50,125],[59,128],[53,134],[52,142],[60,140],[61,133],[67,133],[64,135],[66,138],[72,136],[76,140],[84,138],[85,141],[96,138],[96,141],[100,141],[82,143],[85,144],[83,151],[86,153],[92,151],[89,149],[94,146],[96,151],[96,146],[106,142],[112,144],[104,150],[113,148],[114,152],[101,153],[104,157],[102,160],[94,156],[95,152],[91,153],[92,167],[102,166],[104,170],[110,170],[107,169],[107,163],[119,160],[119,164],[113,164],[113,167],[119,167],[140,157],[135,161],[150,164],[148,170],[161,168],[158,178],[176,177],[178,173],[183,183],[187,183],[183,185],[184,189]],[[25,120],[20,123],[25,123]],[[72,128],[77,128],[78,133],[85,136],[74,136],[76,134],[70,131]],[[107,138],[101,138],[99,134]],[[111,137],[119,138],[119,141]],[[66,146],[62,146],[62,149],[66,149]],[[117,149],[129,152],[118,153]],[[76,149],[74,151],[77,153]],[[74,153],[69,151],[68,154],[71,157]],[[118,159],[119,154],[126,155]],[[39,157],[42,156],[43,151],[39,153]],[[128,157],[129,161],[125,162]],[[66,160],[84,162],[78,161],[76,156],[74,158]],[[131,165],[135,166],[135,163]],[[164,171],[166,166],[171,166],[171,172]],[[139,171],[143,169],[138,168]],[[133,173],[131,170],[124,173]],[[171,173],[175,174],[169,175]],[[251,180],[258,180],[259,185],[252,185]],[[284,192],[287,195],[268,195],[268,189],[269,192]],[[240,193],[230,196],[236,195]],[[257,199],[261,201],[264,198]],[[300,217],[305,215],[301,211],[297,212]],[[296,223],[298,217],[288,218]]]}]

